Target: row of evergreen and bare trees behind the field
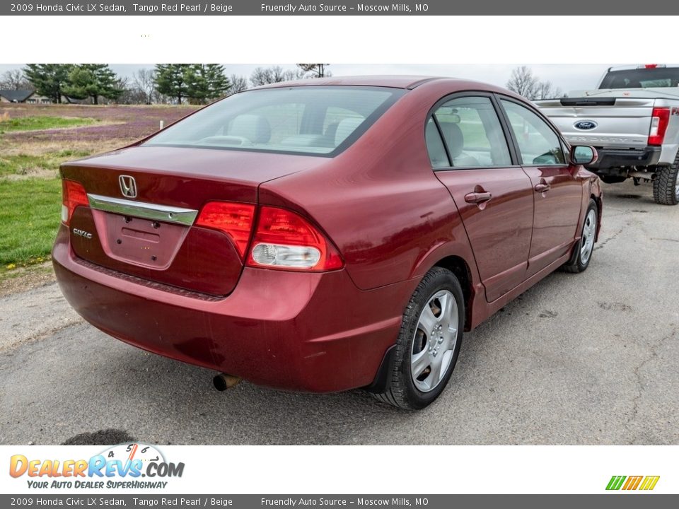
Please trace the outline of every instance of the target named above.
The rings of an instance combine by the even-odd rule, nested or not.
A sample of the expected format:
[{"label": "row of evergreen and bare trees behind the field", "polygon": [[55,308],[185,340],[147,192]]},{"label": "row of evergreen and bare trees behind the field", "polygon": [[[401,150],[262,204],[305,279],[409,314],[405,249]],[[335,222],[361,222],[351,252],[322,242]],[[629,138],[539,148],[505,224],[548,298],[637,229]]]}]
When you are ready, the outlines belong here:
[{"label": "row of evergreen and bare trees behind the field", "polygon": [[257,67],[249,78],[221,64],[157,64],[131,77],[117,76],[108,64],[28,64],[0,76],[0,89],[35,90],[53,103],[206,104],[227,95],[291,79],[330,76],[330,64]]}]

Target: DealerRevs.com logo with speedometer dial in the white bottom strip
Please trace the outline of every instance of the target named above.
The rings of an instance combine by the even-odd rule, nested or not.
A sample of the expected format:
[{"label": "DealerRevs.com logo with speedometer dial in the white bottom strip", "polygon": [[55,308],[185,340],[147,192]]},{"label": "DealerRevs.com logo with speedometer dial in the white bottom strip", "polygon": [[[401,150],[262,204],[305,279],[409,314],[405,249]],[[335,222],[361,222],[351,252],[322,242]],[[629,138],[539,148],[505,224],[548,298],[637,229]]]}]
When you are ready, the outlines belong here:
[{"label": "DealerRevs.com logo with speedometer dial in the white bottom strip", "polygon": [[166,461],[153,445],[115,445],[89,460],[37,460],[13,455],[10,476],[26,476],[29,488],[166,488],[181,477],[184,463]]}]

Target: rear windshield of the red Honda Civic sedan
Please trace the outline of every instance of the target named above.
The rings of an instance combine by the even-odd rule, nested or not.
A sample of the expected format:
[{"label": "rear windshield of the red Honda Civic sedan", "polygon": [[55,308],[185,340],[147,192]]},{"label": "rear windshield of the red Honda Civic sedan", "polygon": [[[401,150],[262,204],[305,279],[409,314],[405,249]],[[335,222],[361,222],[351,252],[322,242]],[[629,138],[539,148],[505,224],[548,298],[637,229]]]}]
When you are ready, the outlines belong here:
[{"label": "rear windshield of the red Honda Civic sedan", "polygon": [[335,156],[403,93],[398,88],[367,86],[249,90],[168,127],[144,146]]}]

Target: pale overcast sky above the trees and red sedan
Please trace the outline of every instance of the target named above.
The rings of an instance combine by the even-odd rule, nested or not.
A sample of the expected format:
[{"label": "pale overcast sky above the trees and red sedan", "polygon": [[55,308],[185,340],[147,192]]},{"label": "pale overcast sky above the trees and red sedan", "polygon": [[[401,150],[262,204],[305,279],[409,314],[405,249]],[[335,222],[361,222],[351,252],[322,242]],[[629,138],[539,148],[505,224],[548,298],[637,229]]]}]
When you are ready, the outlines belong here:
[{"label": "pale overcast sky above the trees and red sedan", "polygon": [[[284,69],[294,69],[294,64],[224,64],[226,74],[250,76],[258,66],[280,65]],[[421,64],[331,64],[330,71],[334,76],[352,74],[423,74],[434,76],[451,76],[485,81],[494,85],[505,86],[511,70],[518,64],[482,64],[482,65],[421,65]],[[607,65],[575,65],[575,64],[526,64],[533,73],[542,80],[549,80],[564,92],[595,88],[599,78],[608,68]],[[18,64],[0,64],[0,74],[8,69],[17,69]],[[112,69],[121,76],[132,76],[137,69],[150,68],[153,64],[111,64]]]}]

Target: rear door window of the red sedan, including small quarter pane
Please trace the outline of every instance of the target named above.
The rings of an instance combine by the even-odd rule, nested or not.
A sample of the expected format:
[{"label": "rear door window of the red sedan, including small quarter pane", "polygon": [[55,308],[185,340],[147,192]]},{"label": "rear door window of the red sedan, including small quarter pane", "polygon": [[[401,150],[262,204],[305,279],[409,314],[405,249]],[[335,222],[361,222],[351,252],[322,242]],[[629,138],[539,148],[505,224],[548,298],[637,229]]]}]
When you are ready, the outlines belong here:
[{"label": "rear door window of the red sedan, including small quarter pane", "polygon": [[[435,128],[439,131],[438,137],[434,135]],[[453,168],[511,165],[501,124],[487,97],[455,98],[444,103],[427,122],[425,136],[434,168],[443,167],[441,139],[448,148],[447,155],[443,148],[446,165]]]}]

